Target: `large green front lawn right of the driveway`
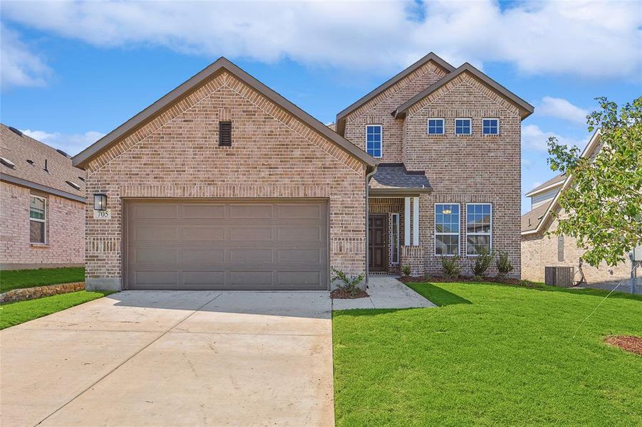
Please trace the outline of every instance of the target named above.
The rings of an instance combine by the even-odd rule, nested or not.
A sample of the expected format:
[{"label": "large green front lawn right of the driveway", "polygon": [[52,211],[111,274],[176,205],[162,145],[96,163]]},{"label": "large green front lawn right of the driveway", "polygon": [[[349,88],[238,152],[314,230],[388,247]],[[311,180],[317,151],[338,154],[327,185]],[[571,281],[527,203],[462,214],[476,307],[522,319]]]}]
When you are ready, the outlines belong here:
[{"label": "large green front lawn right of the driveway", "polygon": [[411,287],[441,307],[333,313],[338,426],[642,425],[642,357],[603,342],[642,335],[639,295]]}]

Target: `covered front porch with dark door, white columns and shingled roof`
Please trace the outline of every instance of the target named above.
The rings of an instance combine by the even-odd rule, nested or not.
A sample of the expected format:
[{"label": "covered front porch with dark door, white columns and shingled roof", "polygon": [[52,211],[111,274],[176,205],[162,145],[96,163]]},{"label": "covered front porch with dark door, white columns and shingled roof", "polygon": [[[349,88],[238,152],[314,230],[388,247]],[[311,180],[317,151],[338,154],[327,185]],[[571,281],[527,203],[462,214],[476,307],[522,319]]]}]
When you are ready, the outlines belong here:
[{"label": "covered front porch with dark door, white columns and shingled roof", "polygon": [[368,273],[423,275],[420,196],[431,191],[423,171],[403,164],[380,164],[368,188]]}]

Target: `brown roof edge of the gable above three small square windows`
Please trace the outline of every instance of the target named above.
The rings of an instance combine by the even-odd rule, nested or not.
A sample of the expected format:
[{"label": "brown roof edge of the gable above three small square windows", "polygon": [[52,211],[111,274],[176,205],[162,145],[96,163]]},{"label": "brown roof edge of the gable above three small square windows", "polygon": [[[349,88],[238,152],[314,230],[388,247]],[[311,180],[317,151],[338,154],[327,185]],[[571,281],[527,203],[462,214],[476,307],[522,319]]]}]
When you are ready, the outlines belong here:
[{"label": "brown roof edge of the gable above three small square windows", "polygon": [[482,73],[480,70],[477,70],[477,68],[470,65],[470,63],[464,63],[459,68],[457,68],[457,70],[454,70],[452,71],[452,73],[445,75],[440,80],[438,80],[438,82],[428,86],[428,88],[418,93],[417,95],[411,97],[408,101],[404,102],[402,105],[397,107],[397,109],[392,112],[393,117],[395,118],[405,117],[405,114],[406,112],[408,112],[408,109],[410,107],[415,105],[420,100],[423,100],[423,98],[435,92],[435,90],[438,90],[443,85],[450,82],[452,79],[456,78],[457,75],[460,75],[462,73],[472,74],[475,78],[477,78],[477,80],[480,80],[482,83],[492,88],[492,90],[495,90],[495,92],[499,93],[499,95],[502,95],[503,97],[507,98],[507,100],[512,102],[514,105],[517,105],[517,108],[519,109],[519,114],[520,114],[520,117],[522,117],[522,120],[524,120],[529,115],[532,115],[534,110],[532,105],[522,100],[521,97],[515,95],[507,88],[504,88],[504,86],[500,85],[495,80],[492,80],[492,78],[488,77],[487,75]]}]

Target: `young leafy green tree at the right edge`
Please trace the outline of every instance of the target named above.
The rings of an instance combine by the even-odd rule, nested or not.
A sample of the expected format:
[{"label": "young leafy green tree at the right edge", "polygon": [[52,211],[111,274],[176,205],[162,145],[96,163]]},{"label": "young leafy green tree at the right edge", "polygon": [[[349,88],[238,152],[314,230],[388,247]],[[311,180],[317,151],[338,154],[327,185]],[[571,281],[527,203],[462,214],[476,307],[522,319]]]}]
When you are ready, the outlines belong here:
[{"label": "young leafy green tree at the right edge", "polygon": [[571,176],[559,196],[554,232],[576,238],[582,258],[596,267],[616,265],[642,244],[642,96],[618,109],[606,97],[588,115],[589,132],[599,129],[602,148],[596,158],[581,157],[577,147],[549,138],[549,164]]}]

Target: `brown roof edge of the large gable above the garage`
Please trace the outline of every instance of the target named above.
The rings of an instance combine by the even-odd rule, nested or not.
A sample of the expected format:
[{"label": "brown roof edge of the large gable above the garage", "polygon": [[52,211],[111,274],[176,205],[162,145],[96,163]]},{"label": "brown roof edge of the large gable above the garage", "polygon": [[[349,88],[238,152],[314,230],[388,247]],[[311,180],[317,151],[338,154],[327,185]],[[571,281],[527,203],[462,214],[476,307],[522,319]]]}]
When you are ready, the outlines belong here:
[{"label": "brown roof edge of the large gable above the garage", "polygon": [[207,66],[207,68],[204,68],[204,70],[200,71],[200,73],[197,73],[185,83],[182,83],[182,85],[178,86],[170,93],[167,93],[167,95],[161,97],[160,100],[157,100],[152,105],[145,108],[145,110],[139,112],[130,120],[123,123],[123,125],[120,125],[115,130],[99,139],[90,147],[83,150],[83,152],[81,152],[80,154],[76,154],[76,156],[73,157],[73,164],[78,167],[85,166],[90,159],[98,156],[98,154],[103,152],[105,149],[108,149],[111,145],[115,144],[115,142],[118,142],[121,137],[129,135],[138,127],[150,121],[153,117],[155,117],[155,115],[167,109],[167,107],[170,107],[173,102],[179,100],[183,95],[190,93],[192,90],[199,87],[202,83],[209,80],[209,78],[212,78],[214,75],[222,73],[223,71],[231,73],[243,83],[249,85],[250,87],[254,88],[254,90],[257,90],[257,92],[267,97],[269,100],[271,100],[271,102],[274,102],[276,105],[284,108],[284,110],[289,111],[292,115],[297,117],[313,130],[316,130],[316,132],[319,132],[324,137],[327,137],[328,139],[336,143],[339,147],[348,152],[348,154],[351,154],[353,157],[361,160],[361,162],[369,166],[374,166],[377,164],[377,161],[373,159],[370,154],[356,147],[356,145],[341,137],[336,132],[333,132],[333,130],[328,128],[326,125],[323,125],[323,123],[319,122],[319,120],[316,120],[307,112],[301,110],[301,108],[297,107],[289,100],[286,100],[284,97],[274,92],[274,90],[271,90],[266,85],[259,82],[259,80],[252,77],[252,75],[249,75],[244,70],[237,67],[237,65],[234,65],[234,63],[227,60],[227,58],[217,59],[216,61],[214,61],[214,63]]}]

